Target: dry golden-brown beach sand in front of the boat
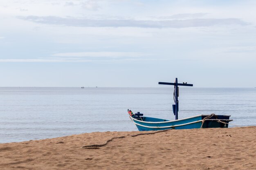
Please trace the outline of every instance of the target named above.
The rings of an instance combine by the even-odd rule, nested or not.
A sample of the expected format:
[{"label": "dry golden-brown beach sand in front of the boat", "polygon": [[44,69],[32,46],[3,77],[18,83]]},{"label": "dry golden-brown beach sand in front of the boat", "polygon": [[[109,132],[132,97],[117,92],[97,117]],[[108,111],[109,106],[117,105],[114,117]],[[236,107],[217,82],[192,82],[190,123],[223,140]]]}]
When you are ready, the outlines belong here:
[{"label": "dry golden-brown beach sand in front of the boat", "polygon": [[[152,132],[152,131],[151,131]],[[0,144],[0,170],[256,170],[256,127],[93,132]],[[104,144],[82,148],[85,145]]]}]

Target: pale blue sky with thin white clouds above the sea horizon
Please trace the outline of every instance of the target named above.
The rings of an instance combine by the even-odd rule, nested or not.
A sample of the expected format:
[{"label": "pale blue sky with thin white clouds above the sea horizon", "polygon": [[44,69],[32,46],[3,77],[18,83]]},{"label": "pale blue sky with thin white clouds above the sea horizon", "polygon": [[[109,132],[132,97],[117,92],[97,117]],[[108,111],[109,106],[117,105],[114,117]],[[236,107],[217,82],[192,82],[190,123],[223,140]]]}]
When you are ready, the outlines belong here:
[{"label": "pale blue sky with thin white clouds above the sea horizon", "polygon": [[[254,0],[0,0],[0,86],[256,86]],[[166,87],[166,86],[165,86]]]}]

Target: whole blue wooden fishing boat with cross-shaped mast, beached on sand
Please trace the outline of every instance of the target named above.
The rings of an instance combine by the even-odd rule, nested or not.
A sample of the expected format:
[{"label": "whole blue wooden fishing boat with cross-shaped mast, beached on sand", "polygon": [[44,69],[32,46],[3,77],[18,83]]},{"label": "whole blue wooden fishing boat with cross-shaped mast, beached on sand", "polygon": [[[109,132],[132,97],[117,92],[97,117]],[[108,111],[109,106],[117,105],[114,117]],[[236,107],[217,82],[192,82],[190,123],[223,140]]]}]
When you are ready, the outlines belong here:
[{"label": "whole blue wooden fishing boat with cross-shaped mast, beached on sand", "polygon": [[165,130],[165,129],[193,129],[193,128],[228,128],[230,115],[196,115],[184,119],[178,119],[179,111],[179,86],[193,86],[193,84],[178,83],[177,78],[174,83],[158,82],[158,84],[173,85],[174,93],[173,98],[173,114],[175,120],[159,119],[154,117],[144,117],[143,114],[137,112],[132,113],[128,110],[130,119],[137,126],[139,131],[147,130]]}]

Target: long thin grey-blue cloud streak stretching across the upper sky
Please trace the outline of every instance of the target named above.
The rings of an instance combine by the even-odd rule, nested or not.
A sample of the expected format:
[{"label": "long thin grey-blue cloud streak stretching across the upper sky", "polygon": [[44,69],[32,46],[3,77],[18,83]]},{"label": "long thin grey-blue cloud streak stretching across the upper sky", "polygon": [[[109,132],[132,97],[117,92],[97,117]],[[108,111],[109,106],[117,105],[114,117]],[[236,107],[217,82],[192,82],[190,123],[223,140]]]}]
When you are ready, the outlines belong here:
[{"label": "long thin grey-blue cloud streak stretching across the upper sky", "polygon": [[140,27],[140,28],[186,28],[206,27],[215,25],[247,25],[247,22],[238,18],[223,19],[186,19],[186,20],[134,20],[134,19],[87,19],[61,18],[56,16],[26,16],[18,17],[22,20],[41,24],[81,27]]}]

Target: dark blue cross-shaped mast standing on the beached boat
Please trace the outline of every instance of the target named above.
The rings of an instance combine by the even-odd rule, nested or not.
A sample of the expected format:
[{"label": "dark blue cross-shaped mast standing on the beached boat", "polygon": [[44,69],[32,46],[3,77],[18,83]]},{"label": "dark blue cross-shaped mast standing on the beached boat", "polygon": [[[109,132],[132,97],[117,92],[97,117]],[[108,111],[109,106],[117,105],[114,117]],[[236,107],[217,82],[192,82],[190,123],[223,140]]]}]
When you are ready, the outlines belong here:
[{"label": "dark blue cross-shaped mast standing on the beached boat", "polygon": [[178,79],[175,78],[175,82],[174,83],[166,83],[166,82],[158,82],[158,84],[165,84],[165,85],[173,85],[174,86],[174,93],[173,93],[173,98],[174,98],[174,102],[175,104],[173,104],[173,114],[175,115],[175,120],[178,119],[178,111],[179,111],[179,87],[178,86],[193,86],[193,84],[187,84],[184,83],[178,83]]}]

